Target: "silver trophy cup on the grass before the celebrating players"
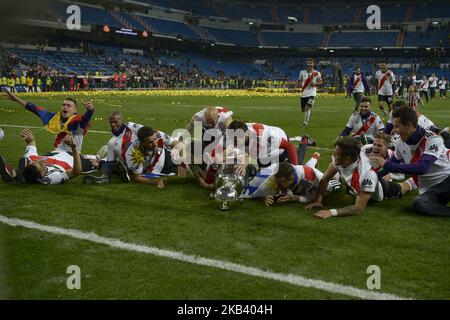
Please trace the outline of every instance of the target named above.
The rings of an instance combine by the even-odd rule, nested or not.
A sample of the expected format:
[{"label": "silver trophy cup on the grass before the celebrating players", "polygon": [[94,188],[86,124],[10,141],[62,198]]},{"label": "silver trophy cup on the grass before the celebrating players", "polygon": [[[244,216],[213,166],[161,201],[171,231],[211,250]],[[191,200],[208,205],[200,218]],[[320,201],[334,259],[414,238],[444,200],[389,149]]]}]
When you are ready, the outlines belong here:
[{"label": "silver trophy cup on the grass before the celebrating players", "polygon": [[239,196],[247,185],[248,177],[238,175],[234,170],[234,164],[227,164],[217,174],[214,182],[213,198],[222,203],[220,210],[229,210],[228,203],[239,200]]}]

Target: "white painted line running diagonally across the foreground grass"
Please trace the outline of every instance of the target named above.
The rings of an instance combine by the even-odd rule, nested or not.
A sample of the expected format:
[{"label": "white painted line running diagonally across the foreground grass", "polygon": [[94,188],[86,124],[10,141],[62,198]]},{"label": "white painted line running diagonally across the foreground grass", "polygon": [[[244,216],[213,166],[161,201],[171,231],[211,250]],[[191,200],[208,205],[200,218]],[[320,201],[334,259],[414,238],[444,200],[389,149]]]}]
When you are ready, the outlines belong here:
[{"label": "white painted line running diagonally across the foreground grass", "polygon": [[13,227],[24,227],[27,229],[39,230],[52,234],[58,234],[63,236],[72,237],[75,239],[87,240],[94,243],[105,244],[113,248],[140,252],[145,254],[151,254],[158,257],[165,257],[182,262],[192,263],[201,266],[213,267],[227,271],[233,271],[245,275],[255,276],[259,278],[265,278],[269,280],[275,280],[279,282],[288,283],[298,287],[315,288],[331,293],[343,294],[360,299],[372,299],[372,300],[410,300],[410,298],[404,298],[389,293],[376,292],[358,289],[350,286],[344,286],[335,284],[332,282],[326,282],[322,280],[309,279],[294,274],[275,273],[271,271],[265,271],[255,267],[248,267],[233,262],[215,260],[210,258],[204,258],[200,256],[193,256],[184,254],[181,252],[170,251],[165,249],[159,249],[155,247],[149,247],[146,245],[139,245],[134,243],[124,242],[119,239],[105,238],[99,236],[93,232],[83,232],[75,229],[64,229],[60,227],[46,226],[33,221],[27,221],[16,218],[9,218],[0,215],[0,222]]}]

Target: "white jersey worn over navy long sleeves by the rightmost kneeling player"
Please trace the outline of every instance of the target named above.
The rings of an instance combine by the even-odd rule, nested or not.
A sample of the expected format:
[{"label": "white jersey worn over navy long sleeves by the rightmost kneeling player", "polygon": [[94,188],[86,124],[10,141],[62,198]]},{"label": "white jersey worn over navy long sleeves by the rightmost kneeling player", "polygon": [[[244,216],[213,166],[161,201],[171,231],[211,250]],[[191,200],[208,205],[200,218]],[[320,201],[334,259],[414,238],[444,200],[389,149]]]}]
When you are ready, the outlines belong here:
[{"label": "white jersey worn over navy long sleeves by the rightmost kneeling player", "polygon": [[395,157],[397,160],[403,160],[404,163],[415,163],[424,154],[433,156],[437,160],[427,173],[413,176],[419,187],[419,194],[441,183],[450,175],[448,149],[445,148],[442,137],[432,131],[425,131],[422,139],[414,145],[409,145],[401,139],[395,142]]}]

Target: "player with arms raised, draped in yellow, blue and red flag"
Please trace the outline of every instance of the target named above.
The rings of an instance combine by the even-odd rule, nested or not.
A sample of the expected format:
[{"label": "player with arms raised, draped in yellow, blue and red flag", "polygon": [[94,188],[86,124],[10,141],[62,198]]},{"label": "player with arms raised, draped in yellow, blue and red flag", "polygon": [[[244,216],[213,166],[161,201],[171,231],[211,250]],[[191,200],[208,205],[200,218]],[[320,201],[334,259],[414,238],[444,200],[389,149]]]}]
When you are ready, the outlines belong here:
[{"label": "player with arms raised, draped in yellow, blue and red flag", "polygon": [[64,99],[59,112],[49,112],[42,107],[17,97],[7,90],[4,90],[4,92],[11,101],[17,102],[25,109],[37,115],[44,124],[45,129],[57,134],[54,142],[55,150],[71,152],[72,148],[64,142],[64,137],[72,134],[78,152],[81,152],[83,136],[87,133],[90,126],[89,121],[94,114],[94,106],[91,101],[84,104],[86,106],[86,112],[81,116],[77,114],[77,102],[71,98]]}]

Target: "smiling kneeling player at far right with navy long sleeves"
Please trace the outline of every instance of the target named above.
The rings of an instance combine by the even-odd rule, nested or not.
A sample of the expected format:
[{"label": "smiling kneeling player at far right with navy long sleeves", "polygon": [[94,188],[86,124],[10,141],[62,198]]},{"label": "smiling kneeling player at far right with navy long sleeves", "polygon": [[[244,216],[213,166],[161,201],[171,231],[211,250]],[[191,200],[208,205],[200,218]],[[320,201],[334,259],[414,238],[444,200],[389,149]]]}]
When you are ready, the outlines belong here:
[{"label": "smiling kneeling player at far right with navy long sleeves", "polygon": [[419,188],[413,209],[421,214],[450,217],[450,151],[442,137],[419,126],[417,113],[411,108],[396,109],[393,118],[400,139],[395,142],[395,156],[390,160],[371,159],[383,168],[378,175],[412,175]]}]

